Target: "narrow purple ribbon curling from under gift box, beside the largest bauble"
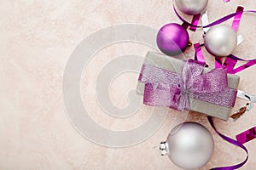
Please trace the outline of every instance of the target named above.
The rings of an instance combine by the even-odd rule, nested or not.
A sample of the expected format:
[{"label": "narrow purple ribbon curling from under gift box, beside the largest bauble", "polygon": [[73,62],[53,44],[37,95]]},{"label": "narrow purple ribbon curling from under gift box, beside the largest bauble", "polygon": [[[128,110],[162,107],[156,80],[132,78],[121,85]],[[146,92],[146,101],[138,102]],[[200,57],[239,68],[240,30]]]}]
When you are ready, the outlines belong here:
[{"label": "narrow purple ribbon curling from under gift box, beside the largest bauble", "polygon": [[236,165],[234,165],[234,166],[228,166],[228,167],[214,167],[214,168],[212,168],[211,170],[234,170],[234,169],[240,168],[240,167],[242,167],[244,164],[246,164],[246,162],[247,162],[247,160],[248,160],[248,150],[247,150],[247,148],[246,148],[243,144],[241,144],[240,142],[238,142],[238,141],[236,141],[236,140],[234,140],[234,139],[230,139],[229,137],[225,136],[224,134],[219,133],[218,130],[216,129],[216,127],[214,127],[214,124],[213,124],[213,122],[212,122],[212,117],[211,117],[211,116],[208,116],[208,121],[210,122],[210,124],[211,124],[212,128],[215,130],[215,132],[218,133],[218,135],[219,135],[222,139],[226,140],[226,141],[229,142],[230,144],[234,144],[234,145],[240,147],[241,149],[245,150],[246,153],[247,153],[247,158],[246,158],[244,161],[242,161],[241,163],[239,163],[239,164],[236,164]]}]

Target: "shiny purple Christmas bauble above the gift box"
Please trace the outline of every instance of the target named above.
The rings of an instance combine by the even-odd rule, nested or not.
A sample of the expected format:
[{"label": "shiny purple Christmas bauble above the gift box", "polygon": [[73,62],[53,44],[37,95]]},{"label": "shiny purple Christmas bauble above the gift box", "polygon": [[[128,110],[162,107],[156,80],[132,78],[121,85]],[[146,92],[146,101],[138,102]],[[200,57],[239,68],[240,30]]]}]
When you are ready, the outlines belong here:
[{"label": "shiny purple Christmas bauble above the gift box", "polygon": [[161,52],[174,56],[181,54],[188,47],[189,33],[179,24],[167,24],[158,31],[156,42]]}]

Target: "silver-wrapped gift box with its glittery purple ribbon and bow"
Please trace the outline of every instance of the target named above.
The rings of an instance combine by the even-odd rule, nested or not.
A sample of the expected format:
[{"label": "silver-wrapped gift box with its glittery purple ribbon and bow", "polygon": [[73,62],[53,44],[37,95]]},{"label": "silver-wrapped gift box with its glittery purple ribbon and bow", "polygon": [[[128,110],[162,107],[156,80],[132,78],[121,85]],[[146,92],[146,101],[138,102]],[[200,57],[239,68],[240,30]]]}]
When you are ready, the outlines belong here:
[{"label": "silver-wrapped gift box with its glittery purple ribbon and bow", "polygon": [[212,70],[193,59],[183,61],[148,52],[137,94],[143,95],[145,105],[188,109],[228,120],[236,102],[239,80],[240,77],[227,74],[224,68]]}]

